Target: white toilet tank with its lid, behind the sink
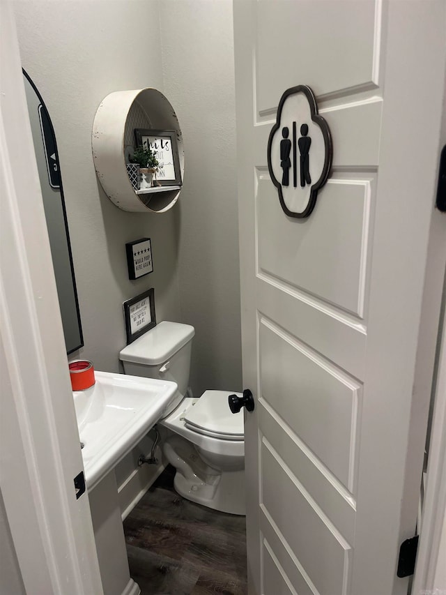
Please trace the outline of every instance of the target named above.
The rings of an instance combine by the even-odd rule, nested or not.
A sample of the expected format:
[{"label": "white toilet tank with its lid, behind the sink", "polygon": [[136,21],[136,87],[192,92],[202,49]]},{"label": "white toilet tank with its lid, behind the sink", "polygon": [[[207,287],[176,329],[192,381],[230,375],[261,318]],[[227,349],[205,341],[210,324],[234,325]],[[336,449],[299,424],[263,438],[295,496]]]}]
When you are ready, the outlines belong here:
[{"label": "white toilet tank with its lid, behind the sink", "polygon": [[185,397],[189,385],[190,355],[195,329],[190,324],[163,321],[119,353],[125,374],[172,380],[178,384],[168,416]]}]

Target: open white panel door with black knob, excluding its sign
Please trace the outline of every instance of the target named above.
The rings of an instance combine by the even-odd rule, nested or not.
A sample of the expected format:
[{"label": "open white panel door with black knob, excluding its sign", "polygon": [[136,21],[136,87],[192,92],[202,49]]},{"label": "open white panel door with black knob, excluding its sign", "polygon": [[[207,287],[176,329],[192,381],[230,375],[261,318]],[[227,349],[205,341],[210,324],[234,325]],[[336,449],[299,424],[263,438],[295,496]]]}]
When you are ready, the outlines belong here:
[{"label": "open white panel door with black knob, excluding its sign", "polygon": [[[445,6],[234,2],[252,594],[408,589],[396,570],[424,448],[412,395]],[[333,163],[296,219],[266,151],[282,93],[301,84],[330,126]]]}]

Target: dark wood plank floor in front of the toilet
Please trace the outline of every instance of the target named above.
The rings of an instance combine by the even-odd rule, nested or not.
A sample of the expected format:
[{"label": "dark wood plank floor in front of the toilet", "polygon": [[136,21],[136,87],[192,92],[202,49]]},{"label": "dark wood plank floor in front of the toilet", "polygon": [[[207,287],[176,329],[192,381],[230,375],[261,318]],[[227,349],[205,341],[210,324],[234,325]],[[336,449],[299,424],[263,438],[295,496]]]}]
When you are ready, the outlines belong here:
[{"label": "dark wood plank floor in front of the toilet", "polygon": [[124,522],[130,575],[142,595],[245,595],[245,517],[178,496],[167,467]]}]

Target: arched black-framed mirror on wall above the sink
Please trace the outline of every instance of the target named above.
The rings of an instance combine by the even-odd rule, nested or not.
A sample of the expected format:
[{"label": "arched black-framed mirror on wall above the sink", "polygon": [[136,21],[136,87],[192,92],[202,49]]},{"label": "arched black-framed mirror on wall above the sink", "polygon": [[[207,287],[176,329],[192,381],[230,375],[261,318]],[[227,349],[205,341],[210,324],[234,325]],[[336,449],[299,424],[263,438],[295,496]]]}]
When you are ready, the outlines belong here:
[{"label": "arched black-framed mirror on wall above the sink", "polygon": [[67,353],[70,354],[84,346],[84,338],[77,301],[75,269],[72,264],[56,136],[42,96],[25,70],[22,72],[47,220],[49,246],[59,295],[63,333]]}]

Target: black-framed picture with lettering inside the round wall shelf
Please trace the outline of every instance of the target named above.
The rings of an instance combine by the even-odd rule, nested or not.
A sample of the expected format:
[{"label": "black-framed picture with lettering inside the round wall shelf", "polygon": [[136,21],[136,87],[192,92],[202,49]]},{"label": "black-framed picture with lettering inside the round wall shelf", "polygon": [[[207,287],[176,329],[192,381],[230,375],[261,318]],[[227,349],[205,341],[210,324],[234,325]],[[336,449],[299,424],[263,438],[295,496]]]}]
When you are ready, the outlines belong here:
[{"label": "black-framed picture with lettering inside the round wall shelf", "polygon": [[156,173],[160,186],[180,186],[181,172],[175,130],[144,130],[135,128],[137,146],[150,149],[158,160]]}]

